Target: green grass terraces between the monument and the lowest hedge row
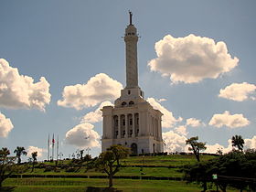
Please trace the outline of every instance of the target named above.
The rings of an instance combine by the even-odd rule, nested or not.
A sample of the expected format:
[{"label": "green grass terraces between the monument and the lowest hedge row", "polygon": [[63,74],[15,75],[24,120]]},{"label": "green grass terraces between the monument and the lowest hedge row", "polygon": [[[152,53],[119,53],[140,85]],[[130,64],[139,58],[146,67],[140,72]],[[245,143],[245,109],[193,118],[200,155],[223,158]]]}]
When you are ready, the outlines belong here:
[{"label": "green grass terraces between the monument and the lowest hedge row", "polygon": [[[211,158],[215,158],[210,155],[201,155],[201,160],[208,160]],[[182,176],[182,173],[177,172],[178,167],[181,165],[194,164],[197,160],[194,155],[165,155],[165,156],[133,156],[128,157],[122,161],[123,165],[127,167],[122,167],[120,172],[117,173],[116,176],[140,176],[141,171],[140,167],[133,167],[133,165],[144,166],[144,165],[156,165],[156,166],[165,166],[165,167],[144,167],[143,172],[145,176],[168,176],[168,177],[176,177]],[[62,162],[63,164],[69,164],[70,160],[66,160]],[[55,163],[47,162],[48,165],[55,165]],[[85,165],[84,163],[83,165]],[[176,167],[176,168],[168,168],[168,166]],[[34,172],[31,173],[31,169],[29,169],[26,175],[81,175],[81,176],[104,176],[105,173],[97,171],[95,169],[87,170],[85,166],[80,168],[79,172],[66,172],[64,169],[61,169],[60,172],[44,172],[44,168],[35,168]]]}]

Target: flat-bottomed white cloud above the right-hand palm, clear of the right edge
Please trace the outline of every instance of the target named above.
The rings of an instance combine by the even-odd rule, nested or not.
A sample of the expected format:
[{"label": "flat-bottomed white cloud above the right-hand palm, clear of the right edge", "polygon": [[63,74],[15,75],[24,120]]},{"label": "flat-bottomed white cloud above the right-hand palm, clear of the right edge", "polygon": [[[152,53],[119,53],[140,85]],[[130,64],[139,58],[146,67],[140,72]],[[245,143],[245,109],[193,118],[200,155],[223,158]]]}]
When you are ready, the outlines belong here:
[{"label": "flat-bottomed white cloud above the right-hand palm, clear of the right edge", "polygon": [[208,123],[216,127],[226,125],[229,128],[243,127],[250,124],[250,121],[242,114],[230,114],[228,111],[222,114],[214,114]]}]

